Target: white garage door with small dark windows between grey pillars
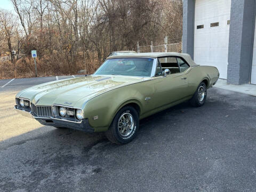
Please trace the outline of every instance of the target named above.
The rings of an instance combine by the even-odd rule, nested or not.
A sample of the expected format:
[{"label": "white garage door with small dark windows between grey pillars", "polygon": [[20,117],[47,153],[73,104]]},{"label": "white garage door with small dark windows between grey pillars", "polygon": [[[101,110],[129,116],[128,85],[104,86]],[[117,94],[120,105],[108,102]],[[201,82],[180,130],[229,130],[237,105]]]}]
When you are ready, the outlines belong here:
[{"label": "white garage door with small dark windows between grey pillars", "polygon": [[194,60],[217,67],[227,78],[231,0],[196,0]]}]

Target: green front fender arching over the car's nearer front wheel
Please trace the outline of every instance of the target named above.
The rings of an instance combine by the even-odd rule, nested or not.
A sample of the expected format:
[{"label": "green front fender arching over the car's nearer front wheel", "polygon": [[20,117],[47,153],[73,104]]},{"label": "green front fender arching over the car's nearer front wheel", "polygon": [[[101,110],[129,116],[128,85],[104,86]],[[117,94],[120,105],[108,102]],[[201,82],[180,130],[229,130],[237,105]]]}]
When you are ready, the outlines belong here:
[{"label": "green front fender arching over the car's nearer front wheel", "polygon": [[116,113],[129,103],[136,103],[141,113],[150,110],[152,104],[147,103],[145,97],[153,93],[154,86],[151,81],[119,87],[87,101],[84,117],[89,119],[89,124],[95,132],[107,131]]}]

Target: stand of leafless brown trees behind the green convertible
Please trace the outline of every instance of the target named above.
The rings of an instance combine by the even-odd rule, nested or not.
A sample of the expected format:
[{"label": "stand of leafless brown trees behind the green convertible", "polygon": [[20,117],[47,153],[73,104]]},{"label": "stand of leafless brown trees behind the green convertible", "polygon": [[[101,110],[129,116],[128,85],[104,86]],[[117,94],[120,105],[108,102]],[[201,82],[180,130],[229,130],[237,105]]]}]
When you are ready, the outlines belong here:
[{"label": "stand of leafless brown trees behind the green convertible", "polygon": [[26,69],[33,66],[31,50],[37,50],[42,74],[93,73],[110,52],[136,50],[138,41],[181,41],[182,0],[10,1],[18,17],[2,14],[9,17],[1,21],[2,49],[15,49],[17,67]]}]

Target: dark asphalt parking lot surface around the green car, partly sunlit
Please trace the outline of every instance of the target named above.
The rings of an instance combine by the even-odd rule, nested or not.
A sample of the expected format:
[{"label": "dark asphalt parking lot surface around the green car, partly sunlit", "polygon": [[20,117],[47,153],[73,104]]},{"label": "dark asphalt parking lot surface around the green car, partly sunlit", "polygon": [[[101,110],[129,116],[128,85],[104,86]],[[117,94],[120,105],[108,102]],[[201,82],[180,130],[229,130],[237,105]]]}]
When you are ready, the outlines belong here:
[{"label": "dark asphalt parking lot surface around the green car, partly sunlit", "polygon": [[213,87],[118,146],[15,113],[19,90],[55,80],[0,80],[0,191],[256,191],[256,97]]}]

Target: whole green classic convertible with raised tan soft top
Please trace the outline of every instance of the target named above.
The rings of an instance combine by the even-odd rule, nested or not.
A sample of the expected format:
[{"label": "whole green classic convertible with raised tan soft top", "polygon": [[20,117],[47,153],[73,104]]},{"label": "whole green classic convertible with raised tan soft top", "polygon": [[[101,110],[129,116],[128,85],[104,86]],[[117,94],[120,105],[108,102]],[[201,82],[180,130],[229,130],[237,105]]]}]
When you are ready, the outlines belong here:
[{"label": "whole green classic convertible with raised tan soft top", "polygon": [[93,75],[20,91],[15,109],[43,125],[106,132],[123,144],[134,139],[139,119],[187,100],[204,105],[218,78],[217,68],[199,66],[188,54],[115,55]]}]

